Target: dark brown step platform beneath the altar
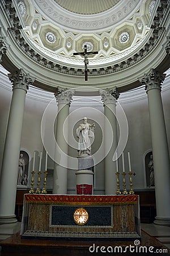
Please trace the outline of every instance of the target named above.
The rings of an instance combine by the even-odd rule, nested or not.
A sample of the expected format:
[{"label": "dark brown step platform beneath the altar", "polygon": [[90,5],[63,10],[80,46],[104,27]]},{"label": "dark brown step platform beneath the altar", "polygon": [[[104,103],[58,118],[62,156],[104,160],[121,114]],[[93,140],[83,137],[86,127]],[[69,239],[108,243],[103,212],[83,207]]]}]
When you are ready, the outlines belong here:
[{"label": "dark brown step platform beneath the altar", "polygon": [[[150,246],[154,247],[154,251],[156,249],[160,250],[160,253],[156,253],[156,255],[170,255],[170,250],[168,250],[163,243],[151,237],[143,230],[142,239],[138,246],[134,246],[134,241],[25,240],[20,237],[19,232],[0,242],[0,245],[2,246],[1,256],[153,255],[153,253],[149,253],[148,251]],[[131,247],[131,250],[135,250],[133,253],[129,251],[130,245],[134,246]],[[121,247],[118,249],[116,246]],[[129,246],[128,249],[126,246]],[[146,246],[147,249],[141,249],[144,251],[139,253],[139,246]],[[163,253],[165,249],[167,253],[165,253],[165,251]],[[116,251],[114,252],[114,250]],[[125,250],[126,252],[124,252]],[[106,251],[106,253],[104,253],[104,251]]]}]

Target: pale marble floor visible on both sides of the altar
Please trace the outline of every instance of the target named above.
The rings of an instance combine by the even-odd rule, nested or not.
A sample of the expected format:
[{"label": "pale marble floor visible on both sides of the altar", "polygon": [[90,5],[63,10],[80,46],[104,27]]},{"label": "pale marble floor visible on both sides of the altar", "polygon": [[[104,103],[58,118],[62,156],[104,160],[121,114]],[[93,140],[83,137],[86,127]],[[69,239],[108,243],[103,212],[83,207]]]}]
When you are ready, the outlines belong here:
[{"label": "pale marble floor visible on both sides of the altar", "polygon": [[[0,242],[10,237],[12,234],[19,232],[21,222],[12,224],[1,224],[0,225]],[[155,224],[141,224],[141,229],[150,236],[155,237],[157,240],[163,243],[164,246],[170,249],[170,226],[160,226]],[[1,256],[1,246],[0,246]]]}]

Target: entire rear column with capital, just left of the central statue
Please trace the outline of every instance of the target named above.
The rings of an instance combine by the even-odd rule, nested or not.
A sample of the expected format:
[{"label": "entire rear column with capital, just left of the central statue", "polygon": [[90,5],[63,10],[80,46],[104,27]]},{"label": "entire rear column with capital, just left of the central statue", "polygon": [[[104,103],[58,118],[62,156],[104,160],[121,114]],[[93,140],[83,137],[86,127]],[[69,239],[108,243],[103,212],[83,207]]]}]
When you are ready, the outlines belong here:
[{"label": "entire rear column with capital, just left of the central statue", "polygon": [[73,92],[66,90],[55,94],[58,102],[57,129],[56,129],[56,152],[54,163],[53,193],[58,195],[67,194],[67,154],[68,154],[68,134],[69,127],[64,123],[69,115],[69,108]]}]

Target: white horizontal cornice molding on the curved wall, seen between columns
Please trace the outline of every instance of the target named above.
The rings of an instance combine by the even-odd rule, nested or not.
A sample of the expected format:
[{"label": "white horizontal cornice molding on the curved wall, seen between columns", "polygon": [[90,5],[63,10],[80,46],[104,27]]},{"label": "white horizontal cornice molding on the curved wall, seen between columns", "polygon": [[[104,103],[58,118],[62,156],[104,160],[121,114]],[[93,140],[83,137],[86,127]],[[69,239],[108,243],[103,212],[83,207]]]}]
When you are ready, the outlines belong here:
[{"label": "white horizontal cornice molding on the curved wall, seen between columns", "polygon": [[[11,83],[7,76],[7,71],[0,65],[0,76],[1,76],[1,88],[8,91],[8,93],[12,93]],[[166,71],[167,76],[163,82],[162,86],[162,95],[167,94],[169,89],[170,82],[170,69]],[[30,85],[29,90],[27,92],[27,98],[35,101],[45,102],[46,104],[54,104],[56,106],[56,101],[53,101],[54,94],[39,88],[35,88],[35,86]],[[145,85],[140,86],[139,88],[135,88],[133,90],[129,90],[127,92],[121,93],[118,99],[119,104],[130,104],[133,102],[146,100],[147,94],[145,92]],[[82,96],[73,96],[73,101],[71,102],[71,106],[89,106],[91,105],[94,108],[102,108],[103,103],[101,102],[101,97],[82,97]]]}]

